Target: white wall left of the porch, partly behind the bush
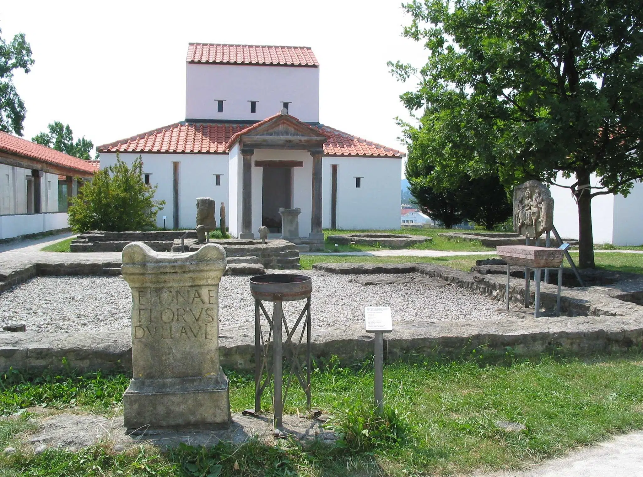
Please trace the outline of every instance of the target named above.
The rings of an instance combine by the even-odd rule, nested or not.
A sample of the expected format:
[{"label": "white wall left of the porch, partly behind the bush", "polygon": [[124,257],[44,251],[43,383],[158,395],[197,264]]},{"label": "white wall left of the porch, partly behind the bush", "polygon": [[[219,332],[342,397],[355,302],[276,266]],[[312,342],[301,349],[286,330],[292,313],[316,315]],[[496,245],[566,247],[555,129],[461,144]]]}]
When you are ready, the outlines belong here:
[{"label": "white wall left of the porch, partly behind the bush", "polygon": [[[131,165],[141,156],[143,173],[151,174],[150,184],[158,185],[155,200],[165,200],[163,210],[156,216],[156,225],[163,227],[163,216],[167,216],[166,227],[174,225],[174,169],[173,162],[179,165],[179,228],[196,227],[196,199],[210,197],[216,202],[216,218],[219,223],[219,207],[226,203],[228,209],[228,155],[227,154],[159,154],[123,153],[120,158]],[[100,154],[100,168],[116,163],[115,153]],[[215,186],[215,175],[221,175],[221,186]],[[228,212],[229,213],[229,212]]]}]

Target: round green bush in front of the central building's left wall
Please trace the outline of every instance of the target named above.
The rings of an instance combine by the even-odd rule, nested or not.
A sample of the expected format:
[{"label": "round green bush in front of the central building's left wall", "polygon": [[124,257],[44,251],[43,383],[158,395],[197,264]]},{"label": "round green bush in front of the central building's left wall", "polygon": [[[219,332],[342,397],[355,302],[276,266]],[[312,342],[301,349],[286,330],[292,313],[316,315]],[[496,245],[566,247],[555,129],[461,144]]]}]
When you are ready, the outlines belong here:
[{"label": "round green bush in front of the central building's left wall", "polygon": [[152,229],[165,205],[154,200],[156,187],[143,180],[141,156],[129,167],[116,153],[116,164],[96,172],[72,199],[69,226],[75,233]]}]

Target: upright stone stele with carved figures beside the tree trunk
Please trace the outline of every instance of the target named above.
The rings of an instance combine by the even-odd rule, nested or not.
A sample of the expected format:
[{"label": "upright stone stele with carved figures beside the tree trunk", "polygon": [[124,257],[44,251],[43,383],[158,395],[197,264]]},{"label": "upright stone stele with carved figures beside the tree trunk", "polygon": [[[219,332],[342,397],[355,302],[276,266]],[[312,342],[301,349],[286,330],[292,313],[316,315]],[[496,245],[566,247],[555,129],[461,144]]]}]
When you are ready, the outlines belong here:
[{"label": "upright stone stele with carved figures beside the tree trunk", "polygon": [[538,180],[514,187],[514,230],[531,239],[554,227],[554,199]]}]

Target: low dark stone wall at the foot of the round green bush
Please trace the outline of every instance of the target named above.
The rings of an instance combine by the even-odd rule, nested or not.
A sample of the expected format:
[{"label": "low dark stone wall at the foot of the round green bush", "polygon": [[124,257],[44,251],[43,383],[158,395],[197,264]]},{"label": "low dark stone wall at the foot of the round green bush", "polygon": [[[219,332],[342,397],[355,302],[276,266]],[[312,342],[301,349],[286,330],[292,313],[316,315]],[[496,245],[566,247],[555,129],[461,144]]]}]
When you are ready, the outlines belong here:
[{"label": "low dark stone wall at the foot of the round green bush", "polygon": [[175,239],[197,238],[195,230],[150,230],[149,232],[107,232],[92,230],[71,241],[71,252],[122,252],[131,242],[143,242],[157,252],[169,252]]}]

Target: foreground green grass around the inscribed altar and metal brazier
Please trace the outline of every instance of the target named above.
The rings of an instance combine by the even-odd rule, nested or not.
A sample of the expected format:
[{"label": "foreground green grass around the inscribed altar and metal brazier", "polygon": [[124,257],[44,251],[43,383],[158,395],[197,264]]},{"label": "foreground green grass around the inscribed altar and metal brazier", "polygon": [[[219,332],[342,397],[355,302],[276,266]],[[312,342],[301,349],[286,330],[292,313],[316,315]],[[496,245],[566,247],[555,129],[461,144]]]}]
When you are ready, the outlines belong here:
[{"label": "foreground green grass around the inscribed altar and metal brazier", "polygon": [[[529,361],[507,355],[499,364],[491,359],[498,357],[478,350],[457,362],[415,356],[388,365],[384,376],[388,421],[373,426],[370,433],[361,432],[359,424],[362,417],[373,415],[370,363],[339,367],[331,361],[315,369],[312,403],[331,413],[336,429],[346,433],[339,449],[302,447],[289,440],[275,447],[249,442],[209,450],[181,447],[166,454],[151,447],[118,455],[105,446],[80,453],[51,449],[37,456],[19,449],[0,455],[0,474],[448,476],[476,469],[515,469],[610,434],[643,428],[640,354]],[[252,377],[228,375],[232,411],[252,407]],[[123,375],[88,375],[41,377],[35,383],[14,374],[0,381],[0,410],[6,415],[18,407],[47,404],[111,415],[116,407],[112,401],[127,381]],[[268,409],[269,401],[263,405]],[[286,412],[302,413],[304,408],[303,392],[293,388]],[[2,419],[0,445],[17,446],[15,434],[33,429],[29,417],[23,413]],[[518,422],[526,429],[503,431],[496,421]],[[349,439],[354,433],[359,438]]]}]

